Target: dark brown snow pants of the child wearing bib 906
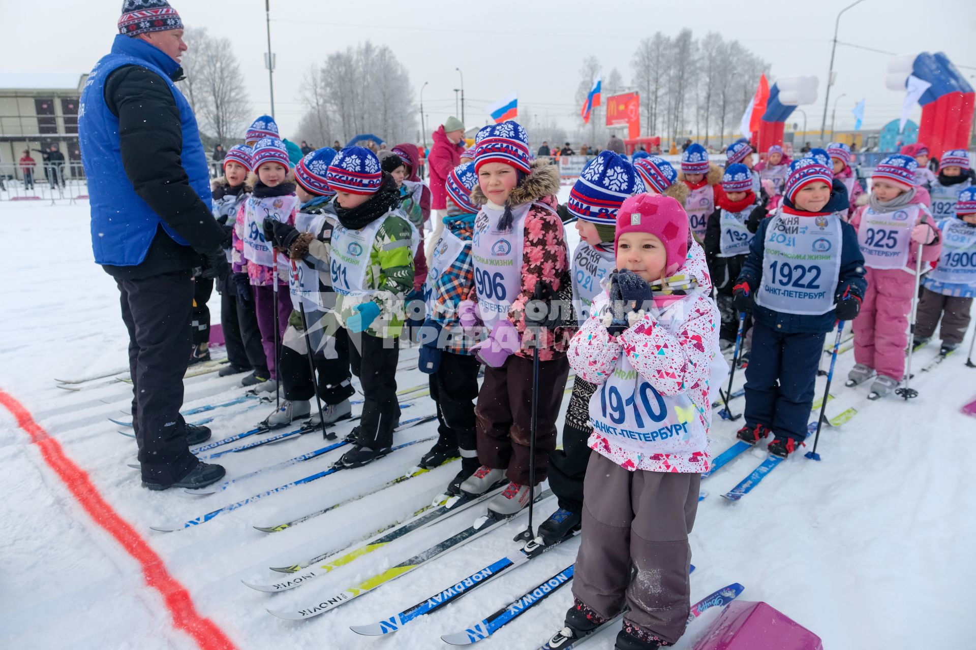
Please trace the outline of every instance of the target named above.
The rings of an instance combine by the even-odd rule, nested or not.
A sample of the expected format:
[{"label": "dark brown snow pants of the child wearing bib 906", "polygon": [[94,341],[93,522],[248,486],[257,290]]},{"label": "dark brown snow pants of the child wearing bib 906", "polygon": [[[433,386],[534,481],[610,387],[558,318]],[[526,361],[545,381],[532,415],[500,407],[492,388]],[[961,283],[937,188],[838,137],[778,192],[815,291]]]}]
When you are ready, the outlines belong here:
[{"label": "dark brown snow pants of the child wearing bib 906", "polygon": [[[555,449],[555,421],[569,377],[561,355],[539,363],[539,431],[536,436],[536,482],[546,478],[549,452]],[[506,477],[529,484],[529,433],[532,423],[532,358],[511,355],[502,367],[485,366],[485,378],[474,406],[478,460]]]}]

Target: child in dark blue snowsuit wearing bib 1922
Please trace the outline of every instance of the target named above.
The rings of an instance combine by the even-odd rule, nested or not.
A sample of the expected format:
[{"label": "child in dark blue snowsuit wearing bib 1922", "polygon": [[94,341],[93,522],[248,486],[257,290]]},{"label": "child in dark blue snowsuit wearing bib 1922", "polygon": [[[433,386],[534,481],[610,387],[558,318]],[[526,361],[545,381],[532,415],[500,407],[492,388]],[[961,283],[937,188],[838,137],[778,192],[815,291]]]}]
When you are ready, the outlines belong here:
[{"label": "child in dark blue snowsuit wearing bib 1922", "polygon": [[866,288],[857,233],[841,219],[847,191],[827,152],[793,161],[784,191],[733,287],[736,310],[752,310],[746,426],[737,436],[754,444],[772,432],[768,449],[782,457],[806,438],[825,334],[857,316]]}]

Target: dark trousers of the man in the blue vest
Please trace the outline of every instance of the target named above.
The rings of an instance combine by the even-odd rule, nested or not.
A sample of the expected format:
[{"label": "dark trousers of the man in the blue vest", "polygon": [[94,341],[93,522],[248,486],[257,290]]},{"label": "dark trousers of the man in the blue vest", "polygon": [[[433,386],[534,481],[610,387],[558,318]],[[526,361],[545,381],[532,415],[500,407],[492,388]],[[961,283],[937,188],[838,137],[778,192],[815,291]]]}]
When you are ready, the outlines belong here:
[{"label": "dark trousers of the man in the blue vest", "polygon": [[180,415],[193,280],[189,271],[176,271],[115,284],[129,330],[132,414],[142,478],[169,485],[199,462],[189,452]]}]

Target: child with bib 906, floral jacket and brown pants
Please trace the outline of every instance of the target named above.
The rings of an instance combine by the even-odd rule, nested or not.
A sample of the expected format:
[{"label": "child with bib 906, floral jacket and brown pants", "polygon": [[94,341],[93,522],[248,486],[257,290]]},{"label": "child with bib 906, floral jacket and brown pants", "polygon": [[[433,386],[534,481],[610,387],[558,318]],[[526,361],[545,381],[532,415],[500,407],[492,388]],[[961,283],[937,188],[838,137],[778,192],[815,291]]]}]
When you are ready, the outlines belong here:
[{"label": "child with bib 906, floral jacket and brown pants", "polygon": [[474,409],[481,467],[461,490],[483,494],[508,478],[508,487],[488,508],[509,516],[529,500],[533,346],[540,359],[538,482],[546,478],[555,448],[555,421],[569,375],[564,347],[556,340],[562,333],[558,319],[545,326],[528,323],[526,307],[536,297],[537,284],[551,296],[568,291],[571,283],[562,221],[552,209],[558,172],[548,161],[532,160],[525,129],[510,120],[481,129],[474,168],[478,186],[471,200],[481,206],[471,239],[475,298],[463,301],[460,309],[463,322],[472,324],[468,315],[477,302],[488,338],[475,347],[487,367]]}]

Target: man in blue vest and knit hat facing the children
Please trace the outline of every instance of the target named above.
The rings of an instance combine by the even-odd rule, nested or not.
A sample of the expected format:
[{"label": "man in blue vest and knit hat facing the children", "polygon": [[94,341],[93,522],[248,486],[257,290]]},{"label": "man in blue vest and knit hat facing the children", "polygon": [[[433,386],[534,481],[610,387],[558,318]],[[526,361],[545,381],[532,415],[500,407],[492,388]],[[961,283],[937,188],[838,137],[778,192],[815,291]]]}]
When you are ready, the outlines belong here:
[{"label": "man in blue vest and knit hat facing the children", "polygon": [[228,271],[211,213],[207,158],[183,78],[183,21],[165,0],[125,0],[111,53],[81,96],[95,261],[115,279],[129,330],[133,423],[142,485],[203,487],[224,477],[189,452],[210,438],[183,421],[193,269]]}]

